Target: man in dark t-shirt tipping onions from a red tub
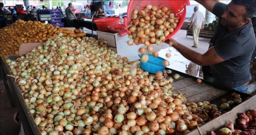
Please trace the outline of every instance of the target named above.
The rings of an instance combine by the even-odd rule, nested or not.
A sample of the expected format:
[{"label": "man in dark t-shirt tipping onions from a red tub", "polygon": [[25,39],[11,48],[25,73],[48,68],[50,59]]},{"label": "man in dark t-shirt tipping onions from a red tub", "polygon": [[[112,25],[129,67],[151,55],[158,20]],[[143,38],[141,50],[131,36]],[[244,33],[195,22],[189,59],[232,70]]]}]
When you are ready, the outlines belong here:
[{"label": "man in dark t-shirt tipping onions from a red tub", "polygon": [[249,62],[256,40],[251,17],[256,13],[256,1],[232,0],[228,5],[212,0],[197,2],[220,18],[209,50],[199,54],[173,39],[170,44],[190,61],[204,66],[204,79],[211,75],[219,86],[246,93],[252,83]]}]

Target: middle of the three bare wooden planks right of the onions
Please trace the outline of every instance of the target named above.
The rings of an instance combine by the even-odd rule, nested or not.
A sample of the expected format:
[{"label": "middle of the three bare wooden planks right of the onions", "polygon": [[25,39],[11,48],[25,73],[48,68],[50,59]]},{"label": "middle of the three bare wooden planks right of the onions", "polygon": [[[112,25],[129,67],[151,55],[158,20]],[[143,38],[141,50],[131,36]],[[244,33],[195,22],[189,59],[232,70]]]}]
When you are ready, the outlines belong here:
[{"label": "middle of the three bare wooden planks right of the onions", "polygon": [[174,93],[182,93],[183,96],[185,96],[187,98],[189,96],[193,96],[193,95],[197,95],[198,93],[202,93],[203,91],[206,91],[211,88],[213,88],[213,87],[209,86],[207,84],[197,83],[197,84],[185,87],[185,88],[174,90],[173,92]]}]

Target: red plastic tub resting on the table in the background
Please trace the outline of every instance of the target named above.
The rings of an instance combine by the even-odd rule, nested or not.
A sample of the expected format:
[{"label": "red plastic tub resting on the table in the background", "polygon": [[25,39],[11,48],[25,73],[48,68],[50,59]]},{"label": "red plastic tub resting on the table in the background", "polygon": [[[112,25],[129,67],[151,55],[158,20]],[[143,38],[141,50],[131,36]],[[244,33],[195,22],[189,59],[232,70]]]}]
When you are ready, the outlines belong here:
[{"label": "red plastic tub resting on the table in the background", "polygon": [[108,26],[113,26],[115,24],[119,24],[120,17],[107,17],[102,19],[95,20],[95,24],[100,31],[109,31]]}]

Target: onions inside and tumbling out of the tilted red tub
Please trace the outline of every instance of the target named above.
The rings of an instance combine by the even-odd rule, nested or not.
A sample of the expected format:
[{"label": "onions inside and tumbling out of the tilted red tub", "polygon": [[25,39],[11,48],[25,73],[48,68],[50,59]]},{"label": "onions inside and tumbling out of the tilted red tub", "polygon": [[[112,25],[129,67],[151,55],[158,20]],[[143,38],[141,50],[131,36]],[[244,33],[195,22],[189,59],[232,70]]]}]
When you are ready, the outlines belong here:
[{"label": "onions inside and tumbling out of the tilted red tub", "polygon": [[[133,10],[131,14],[131,22],[128,25],[129,38],[133,40],[134,44],[144,44],[146,47],[141,47],[138,52],[145,53],[147,48],[148,52],[153,50],[152,44],[161,44],[168,35],[170,35],[179,23],[179,18],[175,18],[175,14],[168,9],[162,7],[157,9],[156,6],[147,5],[145,9],[138,11]],[[133,45],[132,41],[127,42],[128,45]],[[145,54],[146,55],[146,54]],[[157,55],[153,56],[157,57]],[[170,54],[166,54],[170,57]],[[148,60],[144,58],[143,62]],[[164,61],[163,65],[167,66],[168,61]]]}]

